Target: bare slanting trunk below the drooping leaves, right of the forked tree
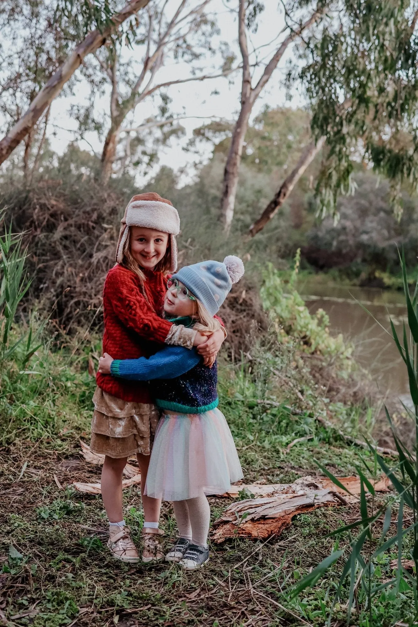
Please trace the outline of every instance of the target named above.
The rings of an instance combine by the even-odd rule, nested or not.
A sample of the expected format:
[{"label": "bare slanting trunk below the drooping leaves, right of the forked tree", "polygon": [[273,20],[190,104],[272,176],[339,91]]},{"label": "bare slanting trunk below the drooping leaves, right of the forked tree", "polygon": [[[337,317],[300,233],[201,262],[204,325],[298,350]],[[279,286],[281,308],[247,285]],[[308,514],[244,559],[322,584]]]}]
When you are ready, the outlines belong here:
[{"label": "bare slanting trunk below the drooping leaves, right of the forked tree", "polygon": [[322,137],[320,137],[320,139],[318,139],[316,144],[315,142],[312,142],[311,144],[306,146],[305,150],[303,150],[295,168],[290,172],[285,181],[283,181],[279,191],[274,196],[273,200],[269,202],[258,220],[256,220],[254,224],[251,224],[249,228],[249,233],[253,237],[256,233],[261,231],[264,226],[266,226],[271,218],[276,215],[280,207],[285,202],[286,198],[290,196],[293,187],[295,187],[303,172],[305,172],[306,168],[313,161],[314,157],[318,154],[318,152],[320,152],[325,143],[325,139],[325,135],[323,135]]}]

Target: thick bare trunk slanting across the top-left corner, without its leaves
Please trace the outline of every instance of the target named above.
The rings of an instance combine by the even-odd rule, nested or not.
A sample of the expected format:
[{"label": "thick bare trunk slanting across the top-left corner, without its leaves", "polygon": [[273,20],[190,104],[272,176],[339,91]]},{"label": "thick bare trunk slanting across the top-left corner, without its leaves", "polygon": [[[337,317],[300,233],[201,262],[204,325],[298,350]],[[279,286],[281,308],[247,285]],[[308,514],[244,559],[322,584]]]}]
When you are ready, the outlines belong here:
[{"label": "thick bare trunk slanting across the top-left corner, without its leaves", "polygon": [[103,33],[100,31],[92,31],[84,41],[76,46],[73,53],[61,65],[61,67],[53,74],[48,82],[40,90],[36,98],[31,102],[30,107],[24,113],[9,133],[0,141],[0,164],[2,164],[8,156],[13,152],[16,146],[26,137],[29,130],[33,129],[39,117],[44,110],[50,105],[56,96],[61,92],[65,83],[71,78],[73,73],[83,63],[86,55],[95,52],[100,46],[107,41],[107,38],[117,30],[125,19],[128,19],[139,9],[144,8],[150,0],[130,0],[125,7],[116,13],[112,18],[112,26],[106,28]]}]

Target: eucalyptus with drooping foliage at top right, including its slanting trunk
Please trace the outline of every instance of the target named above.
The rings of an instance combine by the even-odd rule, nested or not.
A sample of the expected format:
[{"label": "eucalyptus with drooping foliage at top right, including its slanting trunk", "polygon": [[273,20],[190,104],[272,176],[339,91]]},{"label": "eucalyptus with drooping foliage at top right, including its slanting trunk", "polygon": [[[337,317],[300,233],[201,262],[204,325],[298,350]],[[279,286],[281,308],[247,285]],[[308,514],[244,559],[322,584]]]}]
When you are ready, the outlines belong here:
[{"label": "eucalyptus with drooping foliage at top right, including its slanting trunk", "polygon": [[337,196],[354,191],[355,162],[387,177],[397,216],[401,188],[418,188],[418,2],[340,0],[301,51],[300,80],[311,105],[313,142],[298,168],[251,226],[273,218],[313,152],[325,145],[316,184],[318,213],[338,219]]}]

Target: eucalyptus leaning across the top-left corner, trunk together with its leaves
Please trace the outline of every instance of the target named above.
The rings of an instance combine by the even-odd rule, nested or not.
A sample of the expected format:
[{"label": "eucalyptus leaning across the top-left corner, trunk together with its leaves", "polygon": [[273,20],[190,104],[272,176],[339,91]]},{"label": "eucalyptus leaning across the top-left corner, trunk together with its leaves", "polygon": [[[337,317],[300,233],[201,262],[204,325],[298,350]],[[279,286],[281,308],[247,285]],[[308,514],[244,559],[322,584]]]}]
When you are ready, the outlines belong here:
[{"label": "eucalyptus leaning across the top-left corner, trunk together with its leaves", "polygon": [[[41,14],[44,16],[43,11],[50,16],[48,19],[44,19],[44,28],[47,33],[55,34],[55,30],[58,28],[56,25],[60,25],[60,37],[62,34],[63,40],[65,40],[66,54],[53,54],[51,58],[48,55],[44,55],[45,51],[41,42],[41,33],[38,32],[38,40],[36,45],[36,54],[38,54],[39,62],[36,65],[36,73],[33,76],[32,82],[28,81],[27,95],[29,95],[28,101],[24,102],[24,98],[15,102],[14,106],[19,105],[21,109],[16,109],[17,119],[10,121],[9,127],[6,129],[6,135],[0,140],[0,164],[13,152],[16,146],[31,132],[34,132],[34,127],[38,123],[38,120],[42,117],[43,113],[48,110],[51,102],[56,98],[64,85],[68,83],[75,71],[80,67],[81,63],[85,60],[86,55],[95,53],[101,46],[107,44],[110,40],[117,40],[123,36],[123,28],[125,27],[125,34],[127,31],[135,33],[135,28],[138,25],[138,18],[133,16],[137,12],[147,6],[150,0],[130,0],[123,6],[122,2],[118,2],[115,6],[115,11],[112,12],[109,9],[108,0],[95,0],[95,2],[82,1],[77,3],[76,0],[53,0],[43,3],[41,0],[4,0],[0,4],[0,18],[5,19],[6,23],[13,23],[13,20],[19,18],[19,11],[24,8],[29,8],[30,11],[36,11],[37,8],[41,10]],[[55,6],[55,12],[51,14],[51,7]],[[29,11],[28,9],[28,11]],[[130,19],[132,18],[132,19]],[[128,21],[129,20],[129,21]],[[128,21],[128,23],[127,23]],[[127,23],[127,25],[126,25]],[[28,24],[29,31],[37,31],[38,25],[36,24],[36,18]],[[64,28],[65,27],[65,28]],[[19,83],[21,79],[21,73],[18,70],[18,60],[14,58],[13,52],[9,53],[8,40],[5,40],[2,49],[3,67],[11,67],[11,75]],[[80,43],[75,41],[75,35],[80,32]],[[22,39],[26,37],[26,33],[13,33],[13,28],[10,29],[10,34]],[[28,34],[30,37],[30,33]],[[12,39],[13,40],[13,39]],[[18,40],[17,40],[18,41]],[[20,45],[19,43],[17,44]],[[29,44],[30,45],[30,44]],[[56,42],[58,45],[58,41]],[[61,45],[61,42],[60,42]],[[24,53],[31,53],[30,50],[23,50]],[[56,50],[56,48],[53,48]],[[61,50],[61,47],[58,47]],[[42,68],[42,62],[45,63],[45,67]],[[13,81],[8,84],[6,75],[1,76],[1,80],[4,80],[3,87],[6,88],[4,93],[9,93],[11,101],[13,102]],[[46,82],[45,82],[46,81]],[[20,84],[20,83],[19,83]],[[0,90],[3,88],[0,87]],[[27,108],[26,108],[27,107]],[[26,109],[26,110],[25,110]]]}]

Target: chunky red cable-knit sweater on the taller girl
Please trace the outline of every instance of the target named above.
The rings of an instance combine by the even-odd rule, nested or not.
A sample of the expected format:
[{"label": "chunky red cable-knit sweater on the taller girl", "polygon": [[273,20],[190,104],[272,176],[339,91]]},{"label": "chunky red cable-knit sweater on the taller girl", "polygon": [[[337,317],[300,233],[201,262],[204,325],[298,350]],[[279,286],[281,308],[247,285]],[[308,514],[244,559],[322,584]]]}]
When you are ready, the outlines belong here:
[{"label": "chunky red cable-knit sweater on the taller girl", "polygon": [[[160,317],[166,290],[164,275],[147,270],[144,274],[149,302],[135,273],[118,264],[108,271],[103,287],[103,352],[113,359],[149,357],[161,348],[172,327]],[[96,381],[103,391],[124,401],[152,402],[145,382],[124,381],[100,372]]]}]

